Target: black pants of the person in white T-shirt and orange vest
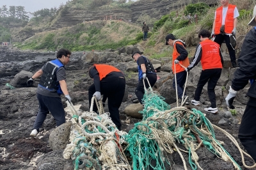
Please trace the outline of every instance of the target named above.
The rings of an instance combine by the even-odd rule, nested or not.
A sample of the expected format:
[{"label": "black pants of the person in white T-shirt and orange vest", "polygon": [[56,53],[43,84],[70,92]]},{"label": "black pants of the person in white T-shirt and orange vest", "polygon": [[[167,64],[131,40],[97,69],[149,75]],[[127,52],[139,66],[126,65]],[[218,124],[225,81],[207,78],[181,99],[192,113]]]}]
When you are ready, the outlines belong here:
[{"label": "black pants of the person in white T-shirt and orange vest", "polygon": [[226,42],[231,63],[236,63],[236,52],[232,48],[232,46],[230,45],[229,36],[228,35],[221,35],[221,34],[220,35],[215,35],[214,42],[218,43],[220,45],[220,47],[221,47],[221,44],[222,44],[223,40],[225,40],[225,42]]}]

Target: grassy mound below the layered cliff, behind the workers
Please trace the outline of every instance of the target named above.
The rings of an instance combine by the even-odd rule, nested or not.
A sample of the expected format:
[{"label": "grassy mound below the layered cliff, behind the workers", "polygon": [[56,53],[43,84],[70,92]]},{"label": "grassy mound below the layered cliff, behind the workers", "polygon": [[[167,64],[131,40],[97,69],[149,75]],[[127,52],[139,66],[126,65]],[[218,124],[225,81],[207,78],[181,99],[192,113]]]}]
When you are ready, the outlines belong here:
[{"label": "grassy mound below the layered cliff, behind the workers", "polygon": [[132,42],[141,28],[121,20],[95,20],[72,27],[45,31],[19,44],[21,49],[104,50]]}]

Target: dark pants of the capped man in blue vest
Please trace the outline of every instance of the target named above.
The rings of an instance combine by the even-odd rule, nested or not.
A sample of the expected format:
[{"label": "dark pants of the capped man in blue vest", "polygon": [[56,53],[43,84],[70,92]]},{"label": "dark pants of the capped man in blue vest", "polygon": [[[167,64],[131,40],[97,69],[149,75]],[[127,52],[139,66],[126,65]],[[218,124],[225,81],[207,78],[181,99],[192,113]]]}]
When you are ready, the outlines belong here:
[{"label": "dark pants of the capped man in blue vest", "polygon": [[[147,78],[148,78],[150,86],[153,87],[154,84],[157,81],[156,73],[147,73]],[[145,80],[146,88],[149,88],[148,81]],[[144,90],[143,79],[140,79],[140,81],[137,84],[135,95],[136,95],[136,97],[138,98],[138,100],[140,101],[141,104],[142,104],[142,99],[143,99],[144,93],[145,93],[145,90]]]}]

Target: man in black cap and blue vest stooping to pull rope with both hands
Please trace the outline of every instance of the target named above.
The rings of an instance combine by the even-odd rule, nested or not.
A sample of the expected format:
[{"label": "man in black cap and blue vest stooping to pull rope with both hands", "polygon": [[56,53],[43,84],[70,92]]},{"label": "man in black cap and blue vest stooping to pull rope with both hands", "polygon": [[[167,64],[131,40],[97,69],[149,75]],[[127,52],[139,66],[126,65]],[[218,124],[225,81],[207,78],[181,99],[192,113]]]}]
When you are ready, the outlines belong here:
[{"label": "man in black cap and blue vest stooping to pull rope with both hands", "polygon": [[152,87],[157,81],[157,75],[152,63],[145,56],[141,56],[140,51],[133,52],[132,59],[134,59],[138,64],[139,75],[139,82],[137,84],[135,95],[138,98],[139,102],[143,104],[142,99],[145,93],[143,80],[145,80],[147,77],[148,81],[145,81],[145,87],[149,88],[149,85]]}]

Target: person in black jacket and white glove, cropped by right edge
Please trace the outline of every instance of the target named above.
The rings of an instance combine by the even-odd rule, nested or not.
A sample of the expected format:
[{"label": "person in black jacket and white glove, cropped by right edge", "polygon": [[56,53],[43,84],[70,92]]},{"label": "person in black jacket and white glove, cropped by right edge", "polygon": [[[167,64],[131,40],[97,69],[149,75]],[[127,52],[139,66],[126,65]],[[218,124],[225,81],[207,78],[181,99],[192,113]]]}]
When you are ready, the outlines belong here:
[{"label": "person in black jacket and white glove, cropped by right edge", "polygon": [[253,19],[248,25],[254,27],[244,38],[241,54],[237,60],[239,68],[234,73],[232,85],[225,99],[228,107],[234,109],[233,101],[237,91],[243,89],[249,81],[251,82],[246,94],[249,97],[249,101],[239,127],[238,137],[256,162],[256,6],[253,10]]}]

